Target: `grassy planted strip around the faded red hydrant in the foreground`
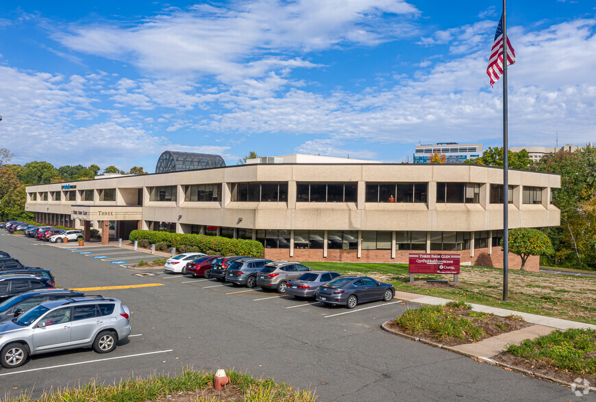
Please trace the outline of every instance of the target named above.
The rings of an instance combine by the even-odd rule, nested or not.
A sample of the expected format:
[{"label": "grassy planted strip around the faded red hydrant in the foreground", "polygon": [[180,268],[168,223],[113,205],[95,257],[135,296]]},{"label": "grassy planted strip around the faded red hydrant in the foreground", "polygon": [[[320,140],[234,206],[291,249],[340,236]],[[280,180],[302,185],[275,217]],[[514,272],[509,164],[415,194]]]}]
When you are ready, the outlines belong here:
[{"label": "grassy planted strip around the faded red hydrant in the foreground", "polygon": [[[45,392],[38,401],[251,401],[251,402],[314,402],[309,390],[295,390],[273,379],[255,379],[246,374],[227,371],[230,384],[223,390],[213,387],[214,374],[186,369],[179,375],[153,375],[146,379],[124,379],[105,386],[92,381],[75,388]],[[30,401],[29,397],[9,399],[11,402]]]}]

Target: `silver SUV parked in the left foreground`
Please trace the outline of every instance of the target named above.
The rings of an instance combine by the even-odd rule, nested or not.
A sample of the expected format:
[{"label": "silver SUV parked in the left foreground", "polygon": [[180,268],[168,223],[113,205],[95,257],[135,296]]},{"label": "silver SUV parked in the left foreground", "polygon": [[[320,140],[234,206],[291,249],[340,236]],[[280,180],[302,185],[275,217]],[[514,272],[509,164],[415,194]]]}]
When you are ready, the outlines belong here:
[{"label": "silver SUV parked in the left foreground", "polygon": [[0,323],[0,363],[13,369],[29,355],[79,347],[108,353],[129,336],[129,320],[130,310],[119,299],[86,296],[44,302]]}]

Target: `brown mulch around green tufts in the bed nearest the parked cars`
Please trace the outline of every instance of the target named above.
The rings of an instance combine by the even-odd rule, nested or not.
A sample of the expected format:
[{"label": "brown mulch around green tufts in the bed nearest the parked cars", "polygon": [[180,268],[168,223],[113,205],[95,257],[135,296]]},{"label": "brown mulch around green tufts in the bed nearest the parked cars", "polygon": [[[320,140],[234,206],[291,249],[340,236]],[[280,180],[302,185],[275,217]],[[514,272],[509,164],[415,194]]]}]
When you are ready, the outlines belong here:
[{"label": "brown mulch around green tufts in the bed nearest the parked cars", "polygon": [[[523,320],[510,319],[508,317],[501,317],[501,316],[498,316],[495,314],[486,314],[486,317],[473,317],[470,314],[477,314],[477,312],[473,312],[472,310],[466,310],[466,309],[453,310],[453,314],[463,317],[463,318],[466,318],[466,319],[471,319],[471,320],[473,320],[475,327],[481,327],[482,330],[484,330],[484,336],[482,338],[480,338],[479,340],[490,338],[491,336],[497,336],[500,334],[504,334],[505,332],[521,330],[521,328],[530,327],[531,325],[533,325],[533,324],[528,323]],[[501,328],[499,328],[499,326],[497,326],[497,324],[499,324],[499,323],[501,325],[504,325],[505,330],[501,330]],[[475,342],[474,340],[471,340],[471,339],[460,339],[460,338],[454,338],[454,337],[440,339],[435,336],[432,336],[431,334],[426,334],[423,332],[419,332],[419,333],[409,332],[408,330],[401,327],[400,325],[397,325],[395,323],[395,321],[391,321],[391,323],[388,325],[388,327],[390,327],[393,330],[403,332],[404,334],[408,334],[410,336],[415,336],[417,338],[421,338],[424,340],[429,340],[430,342],[442,344],[445,346],[456,346],[456,345],[463,345],[464,343],[474,343]]]}]

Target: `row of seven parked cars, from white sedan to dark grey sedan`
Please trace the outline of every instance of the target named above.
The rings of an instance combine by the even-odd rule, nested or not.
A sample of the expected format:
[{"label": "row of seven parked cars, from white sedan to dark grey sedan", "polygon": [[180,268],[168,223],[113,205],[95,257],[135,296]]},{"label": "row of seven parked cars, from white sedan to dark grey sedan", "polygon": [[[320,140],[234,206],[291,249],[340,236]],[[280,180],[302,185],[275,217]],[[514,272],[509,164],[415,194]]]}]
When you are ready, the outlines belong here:
[{"label": "row of seven parked cars, from white sedan to dark grey sedan", "polygon": [[186,273],[223,280],[264,291],[274,289],[296,298],[314,297],[316,301],[354,308],[360,303],[393,299],[395,288],[368,276],[341,276],[334,271],[313,271],[292,261],[272,261],[247,256],[206,256],[179,254],[164,266],[168,273]]}]

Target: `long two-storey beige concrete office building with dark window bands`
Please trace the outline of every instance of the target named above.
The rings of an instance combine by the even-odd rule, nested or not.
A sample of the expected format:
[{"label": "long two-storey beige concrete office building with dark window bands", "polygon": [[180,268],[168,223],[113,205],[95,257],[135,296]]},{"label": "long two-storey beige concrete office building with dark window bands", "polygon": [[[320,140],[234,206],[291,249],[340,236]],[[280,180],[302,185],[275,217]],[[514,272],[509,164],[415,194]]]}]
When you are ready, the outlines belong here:
[{"label": "long two-storey beige concrete office building with dark window bands", "polygon": [[[249,164],[29,186],[26,209],[104,242],[110,227],[142,228],[254,239],[272,259],[406,263],[417,250],[502,267],[502,178],[482,165]],[[511,170],[509,183],[510,228],[559,225],[560,176]]]}]

